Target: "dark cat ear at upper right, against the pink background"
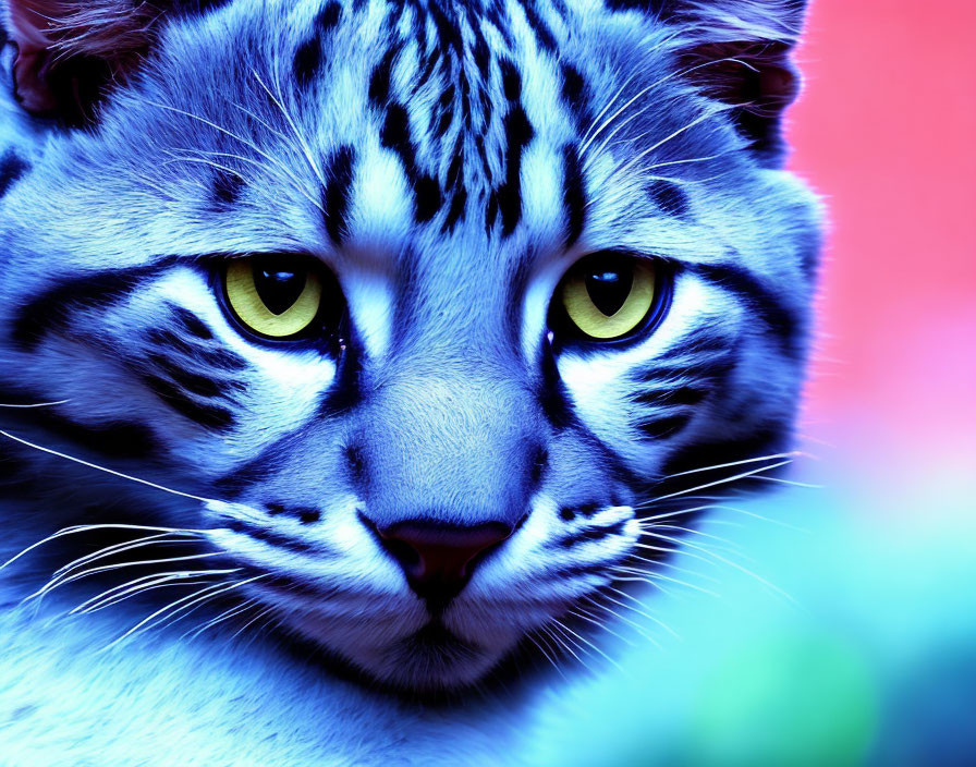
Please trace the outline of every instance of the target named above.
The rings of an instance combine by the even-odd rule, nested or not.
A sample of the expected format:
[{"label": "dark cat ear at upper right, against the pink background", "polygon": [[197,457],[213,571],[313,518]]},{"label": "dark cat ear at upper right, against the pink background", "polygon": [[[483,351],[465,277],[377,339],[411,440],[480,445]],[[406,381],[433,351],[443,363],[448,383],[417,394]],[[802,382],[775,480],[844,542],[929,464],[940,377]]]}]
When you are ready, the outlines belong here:
[{"label": "dark cat ear at upper right, against the pink background", "polygon": [[675,38],[682,72],[732,107],[740,133],[759,160],[779,166],[782,115],[800,93],[793,50],[806,0],[664,0],[683,32]]}]

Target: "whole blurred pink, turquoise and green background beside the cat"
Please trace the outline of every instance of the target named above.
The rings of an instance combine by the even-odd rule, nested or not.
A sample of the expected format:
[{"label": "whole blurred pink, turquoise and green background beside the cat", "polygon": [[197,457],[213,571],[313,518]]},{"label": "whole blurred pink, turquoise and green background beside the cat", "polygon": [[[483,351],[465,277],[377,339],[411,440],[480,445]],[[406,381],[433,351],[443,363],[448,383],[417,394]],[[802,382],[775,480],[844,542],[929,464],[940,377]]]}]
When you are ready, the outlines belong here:
[{"label": "whole blurred pink, turquoise and green background beside the cat", "polygon": [[831,235],[792,478],[816,487],[708,523],[728,563],[682,564],[710,593],[631,611],[657,645],[551,692],[536,764],[976,765],[976,3],[813,5],[792,167]]}]

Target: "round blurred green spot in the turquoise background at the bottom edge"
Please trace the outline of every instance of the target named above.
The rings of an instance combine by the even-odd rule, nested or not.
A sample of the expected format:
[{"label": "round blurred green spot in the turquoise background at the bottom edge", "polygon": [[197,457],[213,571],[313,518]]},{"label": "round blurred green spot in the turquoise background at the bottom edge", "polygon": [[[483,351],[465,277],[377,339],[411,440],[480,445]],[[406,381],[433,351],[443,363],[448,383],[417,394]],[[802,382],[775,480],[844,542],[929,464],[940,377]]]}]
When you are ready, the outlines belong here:
[{"label": "round blurred green spot in the turquoise background at the bottom edge", "polygon": [[684,764],[863,764],[878,691],[854,650],[829,636],[772,637],[732,653],[706,680]]}]

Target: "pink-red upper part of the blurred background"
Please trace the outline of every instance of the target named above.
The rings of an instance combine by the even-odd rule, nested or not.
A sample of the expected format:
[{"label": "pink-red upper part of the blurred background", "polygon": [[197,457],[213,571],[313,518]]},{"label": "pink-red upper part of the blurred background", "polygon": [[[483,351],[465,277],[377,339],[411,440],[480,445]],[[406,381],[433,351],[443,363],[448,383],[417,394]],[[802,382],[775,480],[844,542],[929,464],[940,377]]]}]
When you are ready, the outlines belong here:
[{"label": "pink-red upper part of the blurred background", "polygon": [[976,431],[974,31],[972,0],[813,2],[792,167],[832,234],[807,433]]}]

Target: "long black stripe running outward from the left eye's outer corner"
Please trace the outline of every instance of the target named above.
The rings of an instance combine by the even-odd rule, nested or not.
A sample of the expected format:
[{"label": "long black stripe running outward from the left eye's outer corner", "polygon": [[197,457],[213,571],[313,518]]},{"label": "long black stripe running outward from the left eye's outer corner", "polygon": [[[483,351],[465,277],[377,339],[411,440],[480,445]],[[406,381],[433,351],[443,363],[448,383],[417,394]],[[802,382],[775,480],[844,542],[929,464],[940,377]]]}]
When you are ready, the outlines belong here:
[{"label": "long black stripe running outward from the left eye's outer corner", "polygon": [[101,271],[64,280],[34,296],[14,316],[11,336],[25,351],[33,350],[52,330],[63,328],[73,309],[108,308],[132,293],[141,283],[170,268],[175,259]]}]

